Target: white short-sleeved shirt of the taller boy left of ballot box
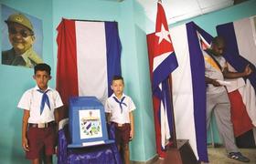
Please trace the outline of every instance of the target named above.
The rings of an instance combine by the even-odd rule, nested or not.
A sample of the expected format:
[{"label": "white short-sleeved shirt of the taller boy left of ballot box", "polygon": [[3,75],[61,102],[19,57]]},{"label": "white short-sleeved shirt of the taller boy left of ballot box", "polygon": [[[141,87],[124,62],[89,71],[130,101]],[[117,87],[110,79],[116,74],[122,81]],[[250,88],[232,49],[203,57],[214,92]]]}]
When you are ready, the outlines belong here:
[{"label": "white short-sleeved shirt of the taller boy left of ballot box", "polygon": [[50,87],[47,88],[50,108],[48,108],[48,105],[45,105],[44,111],[40,115],[40,106],[43,94],[37,91],[37,89],[39,89],[37,86],[28,89],[20,98],[17,108],[29,110],[30,116],[28,118],[28,123],[47,123],[55,120],[55,108],[63,106],[59,92]]}]

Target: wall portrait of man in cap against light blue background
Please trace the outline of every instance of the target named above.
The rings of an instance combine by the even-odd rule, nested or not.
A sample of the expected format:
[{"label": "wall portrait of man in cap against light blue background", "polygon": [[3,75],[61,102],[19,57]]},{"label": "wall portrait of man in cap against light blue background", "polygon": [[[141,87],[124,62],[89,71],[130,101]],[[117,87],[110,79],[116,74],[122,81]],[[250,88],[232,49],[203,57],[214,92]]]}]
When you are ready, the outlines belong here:
[{"label": "wall portrait of man in cap against light blue background", "polygon": [[1,5],[2,64],[34,67],[43,62],[42,20]]}]

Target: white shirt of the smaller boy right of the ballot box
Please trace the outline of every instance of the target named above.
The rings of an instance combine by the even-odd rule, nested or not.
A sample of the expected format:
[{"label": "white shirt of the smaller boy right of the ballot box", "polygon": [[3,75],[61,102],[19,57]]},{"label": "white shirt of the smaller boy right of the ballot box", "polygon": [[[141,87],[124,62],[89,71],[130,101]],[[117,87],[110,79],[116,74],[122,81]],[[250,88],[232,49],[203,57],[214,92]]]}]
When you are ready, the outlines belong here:
[{"label": "white shirt of the smaller boy right of the ballot box", "polygon": [[110,121],[118,123],[118,124],[130,123],[129,113],[136,108],[133,103],[132,98],[128,97],[124,94],[122,95],[122,97],[120,99],[125,97],[123,100],[123,103],[126,104],[126,106],[122,105],[122,107],[123,107],[123,113],[122,113],[119,103],[116,102],[113,97],[116,97],[116,96],[114,94],[112,94],[111,97],[107,98],[106,103],[105,103],[105,112],[112,114]]}]

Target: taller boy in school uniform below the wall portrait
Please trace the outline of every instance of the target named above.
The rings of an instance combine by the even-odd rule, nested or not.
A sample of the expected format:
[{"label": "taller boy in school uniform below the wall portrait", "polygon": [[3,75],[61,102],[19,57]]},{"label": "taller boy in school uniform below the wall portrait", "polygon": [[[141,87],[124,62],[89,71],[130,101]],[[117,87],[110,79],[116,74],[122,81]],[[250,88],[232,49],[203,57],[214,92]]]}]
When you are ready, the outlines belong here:
[{"label": "taller boy in school uniform below the wall portrait", "polygon": [[57,145],[58,109],[63,103],[59,92],[48,87],[50,67],[44,63],[37,64],[34,74],[37,86],[28,89],[17,105],[17,108],[24,109],[22,147],[31,163],[40,163],[41,153],[44,154],[45,163],[52,163]]}]

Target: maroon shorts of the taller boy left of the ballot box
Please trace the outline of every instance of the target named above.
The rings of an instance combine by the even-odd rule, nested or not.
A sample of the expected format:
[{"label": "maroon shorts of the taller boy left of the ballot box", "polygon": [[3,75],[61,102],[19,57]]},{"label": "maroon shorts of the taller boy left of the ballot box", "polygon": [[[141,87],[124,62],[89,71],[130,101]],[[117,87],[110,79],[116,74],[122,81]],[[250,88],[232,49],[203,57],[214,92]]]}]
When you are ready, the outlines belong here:
[{"label": "maroon shorts of the taller boy left of the ballot box", "polygon": [[48,128],[29,127],[27,130],[29,151],[26,151],[26,158],[38,159],[41,153],[46,156],[55,154],[56,138],[56,125]]}]

